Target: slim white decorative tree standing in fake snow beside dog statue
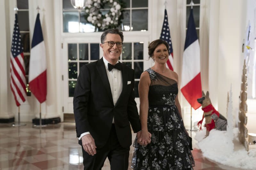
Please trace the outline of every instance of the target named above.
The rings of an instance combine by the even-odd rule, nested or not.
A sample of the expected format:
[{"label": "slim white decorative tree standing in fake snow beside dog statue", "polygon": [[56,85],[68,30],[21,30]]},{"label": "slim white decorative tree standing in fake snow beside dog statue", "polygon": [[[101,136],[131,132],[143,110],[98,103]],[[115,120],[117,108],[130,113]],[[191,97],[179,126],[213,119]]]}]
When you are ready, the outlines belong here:
[{"label": "slim white decorative tree standing in fake snow beside dog statue", "polygon": [[227,150],[232,152],[234,151],[234,143],[233,143],[233,128],[234,128],[234,117],[233,117],[233,105],[232,105],[232,84],[230,86],[230,91],[228,93],[228,103],[227,103],[227,142],[228,148]]}]

